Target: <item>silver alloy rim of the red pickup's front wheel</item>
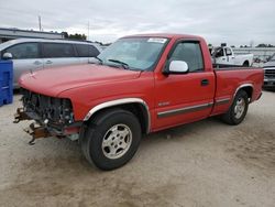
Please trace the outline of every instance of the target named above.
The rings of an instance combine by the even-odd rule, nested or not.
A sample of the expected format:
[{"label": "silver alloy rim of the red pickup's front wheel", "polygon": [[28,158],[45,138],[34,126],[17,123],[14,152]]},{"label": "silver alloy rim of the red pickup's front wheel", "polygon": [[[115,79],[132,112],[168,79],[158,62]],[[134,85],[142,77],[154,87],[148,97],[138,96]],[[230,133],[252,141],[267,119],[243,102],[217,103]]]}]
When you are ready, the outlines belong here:
[{"label": "silver alloy rim of the red pickup's front wheel", "polygon": [[119,159],[130,149],[132,131],[125,124],[119,123],[111,127],[105,134],[101,149],[108,159]]}]

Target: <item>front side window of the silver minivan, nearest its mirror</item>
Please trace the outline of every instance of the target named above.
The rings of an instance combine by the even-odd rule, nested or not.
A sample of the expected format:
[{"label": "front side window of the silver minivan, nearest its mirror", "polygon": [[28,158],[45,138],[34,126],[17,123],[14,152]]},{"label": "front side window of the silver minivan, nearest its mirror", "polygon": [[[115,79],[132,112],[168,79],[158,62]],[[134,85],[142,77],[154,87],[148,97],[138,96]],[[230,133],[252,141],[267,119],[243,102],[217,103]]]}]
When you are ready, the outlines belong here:
[{"label": "front side window of the silver minivan, nearest its mirror", "polygon": [[7,48],[4,53],[11,53],[13,59],[38,58],[38,43],[22,43]]}]

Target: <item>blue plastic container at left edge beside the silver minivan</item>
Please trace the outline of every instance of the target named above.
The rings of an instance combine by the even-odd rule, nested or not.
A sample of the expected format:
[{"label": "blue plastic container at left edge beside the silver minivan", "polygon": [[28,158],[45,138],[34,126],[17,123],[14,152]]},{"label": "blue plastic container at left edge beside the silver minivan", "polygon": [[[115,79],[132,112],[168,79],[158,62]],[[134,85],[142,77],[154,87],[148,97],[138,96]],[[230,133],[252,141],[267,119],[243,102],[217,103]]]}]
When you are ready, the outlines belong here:
[{"label": "blue plastic container at left edge beside the silver minivan", "polygon": [[13,65],[12,61],[0,61],[0,106],[13,101]]}]

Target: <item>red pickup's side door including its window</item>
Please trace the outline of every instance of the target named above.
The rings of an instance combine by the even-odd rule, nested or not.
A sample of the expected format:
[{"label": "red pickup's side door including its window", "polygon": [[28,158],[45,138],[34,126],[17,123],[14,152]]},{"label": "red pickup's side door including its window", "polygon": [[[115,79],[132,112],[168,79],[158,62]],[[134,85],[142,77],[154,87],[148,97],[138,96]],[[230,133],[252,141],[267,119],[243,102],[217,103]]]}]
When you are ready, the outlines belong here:
[{"label": "red pickup's side door including its window", "polygon": [[156,77],[157,129],[204,119],[210,115],[213,103],[215,74],[205,68],[199,42],[179,42],[169,56],[167,66],[173,61],[184,61],[189,72]]}]

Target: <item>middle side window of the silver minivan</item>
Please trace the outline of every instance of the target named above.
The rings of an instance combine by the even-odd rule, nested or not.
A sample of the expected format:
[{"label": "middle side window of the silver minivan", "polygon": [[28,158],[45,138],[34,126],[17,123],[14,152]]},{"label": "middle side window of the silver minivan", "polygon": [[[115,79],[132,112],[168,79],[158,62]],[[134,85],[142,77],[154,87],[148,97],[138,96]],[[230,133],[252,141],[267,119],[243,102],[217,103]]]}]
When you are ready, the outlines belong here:
[{"label": "middle side window of the silver minivan", "polygon": [[64,43],[44,43],[44,57],[75,57],[75,51],[72,44]]}]

